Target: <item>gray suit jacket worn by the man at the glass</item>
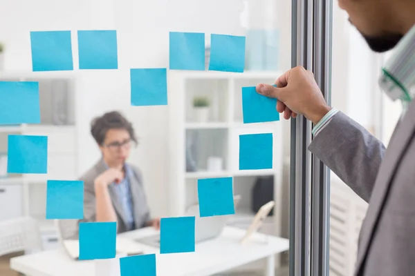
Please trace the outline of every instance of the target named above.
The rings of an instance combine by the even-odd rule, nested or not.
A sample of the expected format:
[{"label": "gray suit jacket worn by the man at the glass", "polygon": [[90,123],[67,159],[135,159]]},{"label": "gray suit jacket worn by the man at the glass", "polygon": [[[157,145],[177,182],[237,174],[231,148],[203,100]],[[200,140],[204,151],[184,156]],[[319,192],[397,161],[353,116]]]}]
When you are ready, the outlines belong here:
[{"label": "gray suit jacket worn by the man at the glass", "polygon": [[356,275],[414,275],[415,101],[387,150],[365,128],[339,112],[309,150],[329,166],[369,209],[360,230]]}]

